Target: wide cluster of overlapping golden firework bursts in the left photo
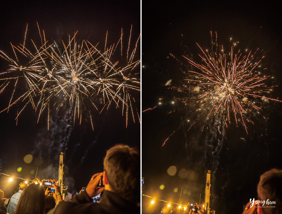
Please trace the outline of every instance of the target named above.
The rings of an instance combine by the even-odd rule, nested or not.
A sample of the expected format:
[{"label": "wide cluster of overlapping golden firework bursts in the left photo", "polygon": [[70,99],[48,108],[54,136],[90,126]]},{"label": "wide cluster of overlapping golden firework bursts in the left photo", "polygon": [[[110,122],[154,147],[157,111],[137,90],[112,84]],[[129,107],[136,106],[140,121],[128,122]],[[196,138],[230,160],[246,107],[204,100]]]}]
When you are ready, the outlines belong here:
[{"label": "wide cluster of overlapping golden firework bursts in the left photo", "polygon": [[[7,71],[0,73],[0,94],[8,85],[13,85],[8,107],[2,111],[8,111],[11,106],[23,103],[24,106],[18,110],[18,119],[22,110],[31,103],[38,114],[38,120],[44,110],[48,112],[49,129],[50,108],[68,108],[67,104],[71,103],[73,122],[78,120],[81,123],[82,116],[86,115],[85,117],[90,118],[93,128],[92,109],[100,112],[114,103],[122,109],[122,114],[126,112],[126,126],[130,111],[133,121],[135,122],[137,115],[140,122],[139,108],[133,105],[133,94],[140,91],[140,59],[135,59],[140,35],[132,49],[131,31],[132,26],[126,63],[122,64],[122,31],[116,45],[108,47],[106,36],[105,49],[98,50],[98,44],[93,45],[85,40],[78,43],[75,40],[76,33],[72,37],[69,36],[67,43],[53,41],[49,44],[44,31],[39,29],[41,45],[36,46],[32,41],[35,48],[32,53],[25,47],[26,30],[23,45],[11,44],[15,60],[0,51],[0,56],[6,59],[10,66]],[[120,62],[112,59],[119,46],[122,59]]]}]

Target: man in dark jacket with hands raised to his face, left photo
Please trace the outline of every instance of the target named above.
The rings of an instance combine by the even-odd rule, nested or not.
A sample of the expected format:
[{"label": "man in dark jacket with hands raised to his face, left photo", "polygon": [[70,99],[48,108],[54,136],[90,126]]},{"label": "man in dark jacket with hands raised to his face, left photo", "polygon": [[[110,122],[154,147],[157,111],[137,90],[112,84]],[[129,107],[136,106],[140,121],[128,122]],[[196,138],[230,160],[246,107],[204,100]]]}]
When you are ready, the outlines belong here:
[{"label": "man in dark jacket with hands raised to his face, left photo", "polygon": [[[98,188],[102,178],[105,187]],[[132,214],[140,213],[140,153],[127,145],[107,150],[104,171],[90,179],[86,190],[72,201],[61,201],[48,214]],[[100,202],[92,197],[102,193]]]}]

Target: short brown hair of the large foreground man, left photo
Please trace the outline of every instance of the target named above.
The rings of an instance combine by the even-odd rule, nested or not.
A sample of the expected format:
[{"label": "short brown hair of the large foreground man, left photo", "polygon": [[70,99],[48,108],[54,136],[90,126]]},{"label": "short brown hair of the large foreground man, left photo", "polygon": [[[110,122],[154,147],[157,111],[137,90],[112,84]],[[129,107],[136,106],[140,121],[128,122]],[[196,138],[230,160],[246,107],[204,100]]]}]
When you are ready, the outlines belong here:
[{"label": "short brown hair of the large foreground man, left photo", "polygon": [[111,190],[135,204],[140,202],[140,153],[128,145],[115,145],[107,150],[104,170]]}]

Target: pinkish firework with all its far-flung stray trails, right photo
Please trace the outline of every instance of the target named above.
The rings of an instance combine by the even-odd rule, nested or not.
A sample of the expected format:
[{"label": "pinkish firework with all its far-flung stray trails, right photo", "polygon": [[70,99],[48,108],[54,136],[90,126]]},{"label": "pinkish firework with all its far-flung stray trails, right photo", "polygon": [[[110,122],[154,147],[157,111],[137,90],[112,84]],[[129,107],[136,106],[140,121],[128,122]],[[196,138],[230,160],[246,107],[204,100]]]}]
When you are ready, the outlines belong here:
[{"label": "pinkish firework with all its far-flung stray trails, right photo", "polygon": [[[180,127],[186,133],[198,123],[202,123],[202,131],[214,132],[215,138],[223,139],[227,126],[232,123],[238,126],[241,124],[248,134],[249,123],[254,124],[254,119],[259,117],[266,119],[263,115],[264,108],[268,107],[266,104],[270,101],[281,102],[278,98],[270,98],[275,86],[269,87],[271,78],[263,74],[266,69],[262,64],[264,57],[257,57],[258,50],[242,53],[235,48],[236,44],[230,42],[228,52],[224,51],[223,46],[219,48],[213,40],[210,50],[203,50],[197,44],[202,52],[199,54],[201,63],[183,56],[191,66],[186,66],[171,55],[187,70],[181,69],[185,75],[181,86],[169,86],[169,89],[175,91],[175,104],[171,98],[164,98],[157,105],[173,104],[175,107],[169,107],[168,113],[178,112],[181,117],[181,124],[163,145]],[[168,80],[167,83],[173,81]]]}]

